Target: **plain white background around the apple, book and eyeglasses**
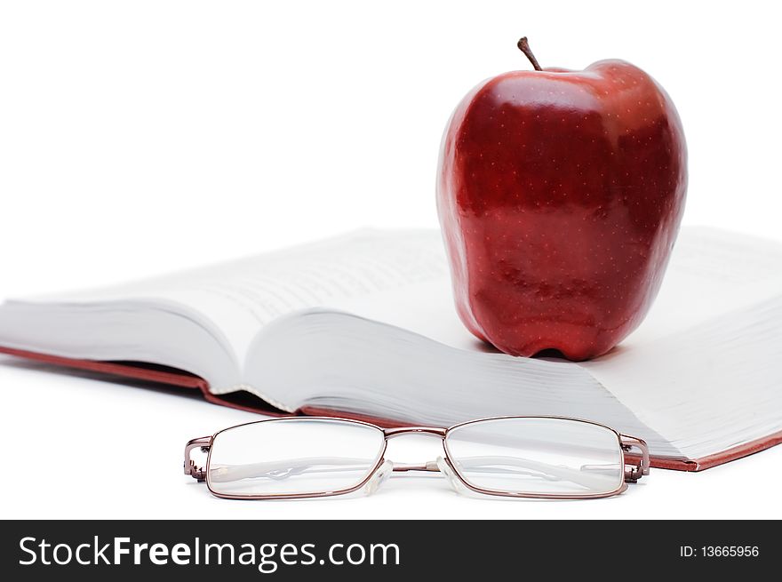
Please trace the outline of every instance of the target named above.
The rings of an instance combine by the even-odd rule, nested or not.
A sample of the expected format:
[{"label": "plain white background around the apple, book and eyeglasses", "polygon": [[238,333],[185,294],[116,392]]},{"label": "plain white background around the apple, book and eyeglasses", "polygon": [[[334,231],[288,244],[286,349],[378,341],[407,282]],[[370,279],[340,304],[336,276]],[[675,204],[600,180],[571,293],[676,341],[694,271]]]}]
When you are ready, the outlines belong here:
[{"label": "plain white background around the apple, book and eyeglasses", "polygon": [[[451,108],[529,68],[522,35],[544,66],[650,72],[690,147],[684,222],[782,237],[771,5],[3,2],[0,295],[435,227]],[[461,498],[436,476],[370,498],[225,501],[181,474],[181,450],[251,414],[10,358],[0,390],[4,517],[782,516],[782,447],[592,502]]]}]

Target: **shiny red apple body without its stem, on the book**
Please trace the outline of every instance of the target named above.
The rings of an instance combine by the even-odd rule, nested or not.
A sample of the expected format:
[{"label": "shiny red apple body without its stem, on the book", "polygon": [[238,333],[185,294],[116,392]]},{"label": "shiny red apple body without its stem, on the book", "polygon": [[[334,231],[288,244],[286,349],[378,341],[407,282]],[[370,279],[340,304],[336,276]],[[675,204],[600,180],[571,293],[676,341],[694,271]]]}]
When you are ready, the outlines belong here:
[{"label": "shiny red apple body without its stem, on the book", "polygon": [[605,354],[657,295],[686,190],[679,115],[640,68],[484,81],[451,116],[437,176],[459,317],[507,354]]}]

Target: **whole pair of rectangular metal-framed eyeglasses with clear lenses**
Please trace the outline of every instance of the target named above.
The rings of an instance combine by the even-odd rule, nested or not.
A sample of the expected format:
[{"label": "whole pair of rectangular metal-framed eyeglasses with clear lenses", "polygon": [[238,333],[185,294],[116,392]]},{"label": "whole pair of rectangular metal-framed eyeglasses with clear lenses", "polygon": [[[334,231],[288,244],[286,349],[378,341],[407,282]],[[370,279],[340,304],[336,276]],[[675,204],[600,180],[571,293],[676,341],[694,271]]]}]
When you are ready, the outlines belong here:
[{"label": "whole pair of rectangular metal-framed eyeglasses with clear lenses", "polygon": [[[410,434],[441,439],[443,456],[420,465],[387,460],[388,440]],[[208,453],[203,467],[192,458],[196,449]],[[560,417],[498,417],[447,429],[291,417],[226,428],[185,447],[185,474],[206,481],[219,498],[371,493],[398,471],[439,471],[463,493],[602,498],[649,474],[649,450],[639,438]]]}]

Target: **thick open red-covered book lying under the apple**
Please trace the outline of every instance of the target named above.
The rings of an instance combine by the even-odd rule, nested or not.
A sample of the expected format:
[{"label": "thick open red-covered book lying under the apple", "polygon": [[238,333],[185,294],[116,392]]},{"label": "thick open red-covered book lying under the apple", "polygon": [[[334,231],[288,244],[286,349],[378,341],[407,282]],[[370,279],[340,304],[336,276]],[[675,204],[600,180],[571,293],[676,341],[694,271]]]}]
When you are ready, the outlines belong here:
[{"label": "thick open red-covered book lying under the apple", "polygon": [[437,231],[360,231],[95,291],[9,300],[0,351],[196,387],[212,402],[450,426],[589,419],[698,470],[782,441],[782,245],[683,228],[641,327],[588,363],[461,325]]}]

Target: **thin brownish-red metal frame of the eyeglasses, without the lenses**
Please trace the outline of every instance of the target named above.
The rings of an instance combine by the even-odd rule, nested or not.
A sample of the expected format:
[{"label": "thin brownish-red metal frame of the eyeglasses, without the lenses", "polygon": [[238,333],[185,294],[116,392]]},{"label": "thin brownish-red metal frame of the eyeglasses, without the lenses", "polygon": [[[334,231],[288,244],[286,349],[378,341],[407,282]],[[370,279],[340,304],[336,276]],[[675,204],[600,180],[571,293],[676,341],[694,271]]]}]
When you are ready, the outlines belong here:
[{"label": "thin brownish-red metal frame of the eyeglasses, without the lenses", "polygon": [[[378,429],[383,434],[383,450],[380,451],[380,456],[375,463],[374,466],[372,466],[371,471],[367,474],[367,476],[363,479],[362,482],[358,483],[357,485],[353,487],[348,487],[346,489],[340,489],[340,490],[333,490],[333,491],[317,491],[314,493],[276,493],[276,494],[251,494],[251,495],[236,495],[236,494],[229,494],[229,493],[220,493],[211,488],[211,485],[208,481],[207,477],[207,467],[210,466],[211,462],[211,445],[212,442],[214,442],[214,439],[220,434],[224,433],[227,430],[231,430],[238,427],[247,427],[249,425],[258,425],[265,422],[274,422],[279,420],[290,420],[290,419],[313,419],[313,420],[338,420],[339,422],[346,422],[349,424],[354,425],[363,425],[365,427],[372,427]],[[470,482],[467,482],[467,480],[459,474],[459,470],[457,470],[453,463],[451,462],[451,458],[448,454],[448,447],[445,445],[445,439],[448,436],[448,434],[459,427],[466,427],[468,425],[472,425],[479,422],[484,422],[486,420],[501,420],[501,419],[558,419],[558,420],[572,420],[574,422],[581,422],[588,425],[594,425],[595,427],[602,427],[610,430],[611,433],[617,436],[618,444],[619,444],[619,450],[621,450],[624,460],[624,479],[621,482],[621,484],[618,486],[617,489],[606,492],[606,493],[586,493],[584,495],[578,495],[578,494],[562,494],[562,493],[530,493],[530,492],[515,492],[515,491],[500,491],[500,490],[489,490],[489,489],[483,489],[482,487],[475,487]],[[185,474],[190,475],[198,482],[206,482],[206,487],[209,489],[210,493],[218,498],[225,498],[225,499],[247,499],[247,500],[260,500],[260,499],[306,499],[306,498],[323,498],[323,497],[334,497],[337,495],[347,495],[349,493],[353,493],[354,491],[360,490],[363,488],[368,482],[370,482],[371,478],[378,472],[378,469],[383,466],[383,464],[386,462],[386,450],[388,448],[388,440],[396,438],[397,436],[402,435],[427,435],[427,436],[434,436],[434,437],[440,437],[440,439],[443,442],[443,460],[445,463],[449,466],[451,469],[451,474],[455,475],[457,479],[459,479],[459,482],[461,482],[462,485],[467,487],[468,490],[471,490],[475,493],[479,493],[482,495],[491,495],[495,497],[508,497],[508,498],[536,498],[536,499],[597,499],[597,498],[607,498],[607,497],[613,497],[615,495],[619,495],[627,490],[627,483],[634,483],[638,482],[639,479],[643,475],[649,474],[650,469],[650,458],[649,458],[649,447],[647,446],[646,442],[643,441],[641,438],[638,438],[636,436],[630,436],[630,435],[623,435],[619,433],[618,431],[614,430],[611,427],[608,427],[606,425],[603,425],[599,422],[594,422],[592,420],[585,420],[585,419],[574,419],[571,417],[563,417],[563,416],[516,416],[516,415],[510,415],[510,416],[499,416],[499,417],[488,417],[485,419],[474,419],[474,420],[467,420],[466,422],[461,422],[457,425],[453,425],[452,427],[448,428],[442,428],[442,427],[390,427],[390,428],[383,428],[379,427],[378,425],[374,425],[370,422],[365,422],[363,420],[354,420],[354,419],[340,419],[339,417],[328,417],[328,416],[286,416],[286,417],[278,417],[275,419],[263,419],[263,420],[253,420],[251,422],[244,422],[240,425],[235,425],[234,427],[227,427],[223,428],[216,433],[214,433],[211,436],[201,436],[195,439],[191,439],[188,441],[188,443],[185,445]],[[206,458],[206,465],[204,466],[196,466],[195,460],[191,458],[191,453],[195,449],[200,449],[201,452],[207,454]],[[633,453],[630,452],[633,449],[640,450],[640,453]],[[628,454],[629,453],[629,454]],[[392,471],[394,472],[407,472],[407,471],[428,471],[433,473],[440,473],[440,467],[437,466],[436,461],[428,461],[424,465],[403,465],[403,464],[394,464],[392,467]],[[447,476],[447,475],[446,475]]]}]

